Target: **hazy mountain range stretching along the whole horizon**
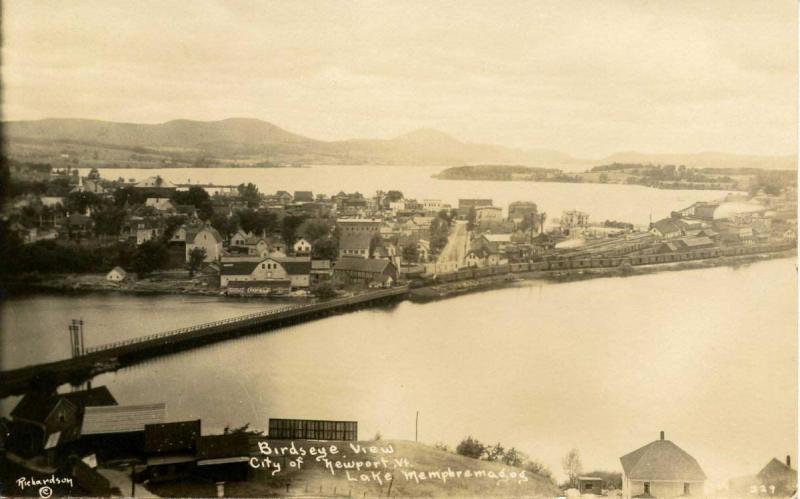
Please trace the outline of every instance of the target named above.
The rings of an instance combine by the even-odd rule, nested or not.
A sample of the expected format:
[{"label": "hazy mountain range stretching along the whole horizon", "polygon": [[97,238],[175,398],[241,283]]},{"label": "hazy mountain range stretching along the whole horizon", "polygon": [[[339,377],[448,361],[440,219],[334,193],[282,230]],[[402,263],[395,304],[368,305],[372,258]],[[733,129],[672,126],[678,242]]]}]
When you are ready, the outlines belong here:
[{"label": "hazy mountain range stretching along the whole horizon", "polygon": [[252,118],[173,120],[160,124],[89,119],[7,121],[3,123],[3,133],[7,153],[15,159],[48,161],[69,153],[78,157],[81,164],[96,162],[105,166],[514,164],[582,170],[613,162],[768,169],[793,169],[796,165],[795,156],[715,152],[620,152],[606,158],[584,159],[549,149],[463,142],[433,129],[419,129],[393,139],[323,141]]}]

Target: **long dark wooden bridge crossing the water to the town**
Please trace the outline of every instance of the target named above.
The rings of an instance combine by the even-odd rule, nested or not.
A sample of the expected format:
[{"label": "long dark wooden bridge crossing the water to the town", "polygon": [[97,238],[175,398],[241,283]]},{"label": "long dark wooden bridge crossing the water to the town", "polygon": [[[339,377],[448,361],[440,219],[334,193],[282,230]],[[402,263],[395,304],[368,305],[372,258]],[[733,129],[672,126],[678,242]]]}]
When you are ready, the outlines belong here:
[{"label": "long dark wooden bridge crossing the water to the town", "polygon": [[64,383],[83,383],[92,377],[147,359],[188,350],[247,334],[279,329],[329,315],[403,300],[408,287],[327,300],[310,305],[283,306],[196,326],[165,331],[87,348],[84,355],[0,372],[0,398],[33,388],[53,388]]}]

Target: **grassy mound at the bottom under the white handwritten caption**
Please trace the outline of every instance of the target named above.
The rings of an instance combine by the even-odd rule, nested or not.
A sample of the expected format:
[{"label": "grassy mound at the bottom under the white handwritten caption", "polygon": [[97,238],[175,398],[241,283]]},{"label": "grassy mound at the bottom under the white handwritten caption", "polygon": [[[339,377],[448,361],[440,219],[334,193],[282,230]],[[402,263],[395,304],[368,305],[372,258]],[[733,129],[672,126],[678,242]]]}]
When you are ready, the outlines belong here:
[{"label": "grassy mound at the bottom under the white handwritten caption", "polygon": [[[288,441],[269,442],[273,447],[290,444]],[[295,441],[295,448],[298,451],[304,449],[308,452],[312,446],[329,446],[331,444],[335,444],[340,453],[329,454],[326,457],[330,462],[329,465],[324,460],[315,461],[314,457],[306,455],[302,467],[296,469],[289,464],[284,464],[282,458],[277,458],[285,469],[276,473],[275,476],[258,471],[252,479],[246,482],[228,483],[225,493],[228,496],[236,497],[296,495],[386,497],[389,493],[392,497],[553,497],[558,495],[555,485],[538,475],[502,464],[466,458],[409,441],[358,442],[362,447],[391,448],[391,453],[378,451],[377,453],[367,452],[355,455],[349,444],[345,442]],[[385,458],[388,467],[381,464],[381,458]],[[292,459],[293,456],[288,457],[288,461]],[[345,470],[337,468],[336,462],[345,464],[351,463],[353,460],[361,463],[372,461],[379,464],[377,468],[370,466],[363,467],[360,472],[350,471],[349,477]],[[396,463],[400,463],[401,466],[395,468]],[[334,469],[334,473],[331,473],[331,468]],[[461,476],[448,478],[448,470]],[[470,474],[473,476],[465,478],[467,470],[470,470]],[[375,478],[373,472],[380,477],[380,480]],[[429,472],[434,472],[433,476],[429,477]],[[480,476],[474,476],[476,473]],[[367,481],[361,480],[362,474],[368,478]],[[493,474],[494,477],[490,477],[490,474]],[[515,478],[512,479],[511,476]],[[162,496],[212,497],[215,495],[213,483],[196,481],[153,484],[150,489]]]}]

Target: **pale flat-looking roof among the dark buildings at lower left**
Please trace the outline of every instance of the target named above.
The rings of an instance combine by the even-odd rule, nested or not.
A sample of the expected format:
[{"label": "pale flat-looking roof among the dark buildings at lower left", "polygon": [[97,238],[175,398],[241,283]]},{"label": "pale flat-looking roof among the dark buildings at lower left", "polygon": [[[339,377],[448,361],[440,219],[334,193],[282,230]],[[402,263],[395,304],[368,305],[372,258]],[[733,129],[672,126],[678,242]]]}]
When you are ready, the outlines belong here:
[{"label": "pale flat-looking roof among the dark buildings at lower left", "polygon": [[145,405],[87,407],[81,435],[144,431],[145,425],[161,423],[167,406],[163,402]]}]

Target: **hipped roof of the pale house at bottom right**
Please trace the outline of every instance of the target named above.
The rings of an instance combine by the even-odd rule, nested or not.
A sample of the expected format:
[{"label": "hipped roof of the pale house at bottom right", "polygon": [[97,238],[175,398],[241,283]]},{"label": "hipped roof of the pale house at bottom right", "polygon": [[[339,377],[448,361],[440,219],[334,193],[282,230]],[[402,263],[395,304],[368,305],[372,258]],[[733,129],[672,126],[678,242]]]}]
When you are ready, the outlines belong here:
[{"label": "hipped roof of the pale house at bottom right", "polygon": [[695,458],[670,440],[655,440],[619,460],[625,475],[636,480],[691,482],[706,479]]}]

